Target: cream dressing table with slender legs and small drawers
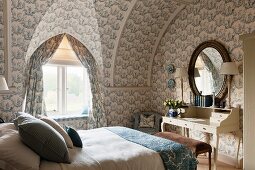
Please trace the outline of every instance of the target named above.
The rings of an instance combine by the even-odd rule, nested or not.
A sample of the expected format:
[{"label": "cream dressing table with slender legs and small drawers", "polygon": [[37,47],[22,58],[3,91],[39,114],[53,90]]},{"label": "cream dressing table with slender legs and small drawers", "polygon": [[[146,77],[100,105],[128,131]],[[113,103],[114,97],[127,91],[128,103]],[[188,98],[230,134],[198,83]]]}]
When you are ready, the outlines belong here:
[{"label": "cream dressing table with slender legs and small drawers", "polygon": [[[165,131],[165,125],[171,124],[183,127],[184,134],[189,137],[189,129],[213,134],[214,140],[214,169],[217,169],[219,134],[236,132],[238,135],[238,150],[236,161],[238,165],[238,154],[240,147],[240,130],[239,130],[239,109],[222,109],[210,107],[189,106],[185,108],[184,118],[180,117],[163,117],[161,130]],[[186,132],[186,133],[185,133]],[[207,138],[209,142],[209,137]]]}]

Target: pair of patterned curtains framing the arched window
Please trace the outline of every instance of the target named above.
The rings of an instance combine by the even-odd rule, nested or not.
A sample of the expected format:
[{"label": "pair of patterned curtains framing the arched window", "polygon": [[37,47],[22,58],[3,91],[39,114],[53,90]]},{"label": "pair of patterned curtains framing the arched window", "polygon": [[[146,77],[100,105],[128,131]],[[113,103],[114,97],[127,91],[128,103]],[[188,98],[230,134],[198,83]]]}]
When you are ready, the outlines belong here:
[{"label": "pair of patterned curtains framing the arched window", "polygon": [[32,114],[45,114],[43,105],[43,71],[42,66],[54,55],[63,37],[69,41],[76,57],[81,64],[87,68],[90,87],[92,92],[92,109],[89,114],[89,127],[100,127],[106,125],[103,101],[98,79],[98,65],[84,44],[69,34],[59,34],[43,42],[35,52],[27,59],[26,64],[26,101],[25,111]]}]

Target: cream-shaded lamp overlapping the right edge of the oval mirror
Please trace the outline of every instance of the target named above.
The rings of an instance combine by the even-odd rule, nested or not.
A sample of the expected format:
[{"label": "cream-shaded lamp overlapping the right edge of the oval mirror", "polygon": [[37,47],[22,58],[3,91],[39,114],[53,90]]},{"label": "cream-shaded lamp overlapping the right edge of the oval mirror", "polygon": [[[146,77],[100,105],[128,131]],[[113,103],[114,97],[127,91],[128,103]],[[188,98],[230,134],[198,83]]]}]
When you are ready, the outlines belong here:
[{"label": "cream-shaded lamp overlapping the right edge of the oval mirror", "polygon": [[237,69],[235,62],[224,62],[221,65],[220,74],[227,76],[227,81],[228,81],[228,106],[227,106],[227,108],[231,108],[231,104],[230,104],[231,76],[238,74],[238,69]]}]

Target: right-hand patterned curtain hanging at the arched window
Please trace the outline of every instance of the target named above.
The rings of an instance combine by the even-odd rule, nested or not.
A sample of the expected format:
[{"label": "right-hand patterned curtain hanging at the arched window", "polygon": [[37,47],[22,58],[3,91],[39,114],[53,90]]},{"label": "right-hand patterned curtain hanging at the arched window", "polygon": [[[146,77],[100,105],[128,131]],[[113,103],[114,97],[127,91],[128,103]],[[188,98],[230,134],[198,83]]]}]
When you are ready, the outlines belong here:
[{"label": "right-hand patterned curtain hanging at the arched window", "polygon": [[87,68],[92,92],[92,113],[89,114],[89,128],[98,128],[107,125],[101,89],[98,79],[98,68],[96,61],[88,49],[71,35],[66,35],[74,52],[82,65]]}]

